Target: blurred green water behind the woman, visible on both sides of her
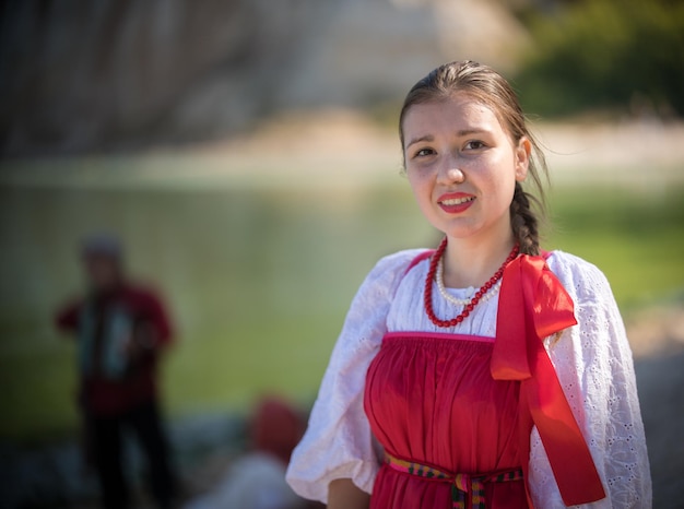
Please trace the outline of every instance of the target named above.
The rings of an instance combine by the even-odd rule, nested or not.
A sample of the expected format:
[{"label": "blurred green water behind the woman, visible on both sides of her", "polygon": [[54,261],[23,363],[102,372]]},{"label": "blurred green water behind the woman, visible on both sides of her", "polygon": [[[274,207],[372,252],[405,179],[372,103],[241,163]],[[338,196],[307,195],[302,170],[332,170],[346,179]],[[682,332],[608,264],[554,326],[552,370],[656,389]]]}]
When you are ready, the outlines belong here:
[{"label": "blurred green water behind the woman, visible on both sides of her", "polygon": [[[311,401],[364,275],[382,254],[434,246],[408,189],[97,190],[0,187],[0,438],[75,426],[73,345],[50,316],[78,293],[75,246],[120,233],[130,269],[178,323],[164,367],[172,414],[244,410],[276,391]],[[684,189],[559,188],[547,247],[598,264],[623,309],[684,288]]]}]

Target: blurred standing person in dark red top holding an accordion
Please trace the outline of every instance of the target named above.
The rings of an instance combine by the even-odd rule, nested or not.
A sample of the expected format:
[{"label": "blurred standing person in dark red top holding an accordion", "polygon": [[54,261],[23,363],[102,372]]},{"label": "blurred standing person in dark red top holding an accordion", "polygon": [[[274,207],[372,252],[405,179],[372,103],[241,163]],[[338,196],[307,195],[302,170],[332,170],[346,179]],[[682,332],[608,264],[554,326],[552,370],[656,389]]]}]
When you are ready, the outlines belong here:
[{"label": "blurred standing person in dark red top holding an accordion", "polygon": [[85,450],[105,509],[131,507],[122,435],[132,431],[148,460],[152,497],[172,506],[174,475],[160,417],[156,365],[172,328],[160,298],[126,277],[121,245],[110,235],[81,247],[87,288],[62,308],[57,327],[74,335]]}]

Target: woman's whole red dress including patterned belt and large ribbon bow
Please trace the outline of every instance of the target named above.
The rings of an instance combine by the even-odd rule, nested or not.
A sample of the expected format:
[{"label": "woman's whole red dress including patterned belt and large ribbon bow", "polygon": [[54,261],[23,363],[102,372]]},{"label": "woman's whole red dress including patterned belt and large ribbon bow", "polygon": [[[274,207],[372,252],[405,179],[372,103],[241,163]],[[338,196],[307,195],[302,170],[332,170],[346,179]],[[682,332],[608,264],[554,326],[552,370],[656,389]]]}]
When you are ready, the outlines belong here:
[{"label": "woman's whole red dress including patterned belt and large ribbon bow", "polygon": [[386,334],[368,368],[364,396],[370,429],[388,460],[372,508],[449,507],[449,500],[455,509],[528,508],[523,471],[532,422],[547,449],[552,446],[564,499],[604,498],[542,345],[541,334],[576,323],[573,300],[544,259],[522,256],[504,272],[494,341]]}]

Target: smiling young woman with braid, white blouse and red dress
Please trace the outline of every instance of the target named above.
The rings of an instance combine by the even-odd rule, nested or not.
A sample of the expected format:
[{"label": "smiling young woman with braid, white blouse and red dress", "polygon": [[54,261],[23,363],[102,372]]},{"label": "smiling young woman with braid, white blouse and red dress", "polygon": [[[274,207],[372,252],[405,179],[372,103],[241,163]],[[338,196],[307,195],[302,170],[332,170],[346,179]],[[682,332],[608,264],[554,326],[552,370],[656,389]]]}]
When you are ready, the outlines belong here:
[{"label": "smiling young woman with braid, white blouse and red dress", "polygon": [[540,186],[544,157],[509,84],[441,66],[409,92],[400,135],[444,241],[366,277],[293,488],[340,509],[650,507],[623,322],[595,267],[540,248],[523,182]]}]

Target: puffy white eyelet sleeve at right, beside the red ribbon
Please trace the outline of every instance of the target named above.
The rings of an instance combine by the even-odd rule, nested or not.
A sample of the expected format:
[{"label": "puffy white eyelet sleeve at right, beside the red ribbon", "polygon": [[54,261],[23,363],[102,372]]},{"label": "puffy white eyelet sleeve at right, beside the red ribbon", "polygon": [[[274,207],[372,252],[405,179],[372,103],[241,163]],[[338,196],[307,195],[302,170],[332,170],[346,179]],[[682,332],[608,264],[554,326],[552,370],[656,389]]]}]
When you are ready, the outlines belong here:
[{"label": "puffy white eyelet sleeve at right, beside the red ribbon", "polygon": [[[555,252],[550,268],[575,301],[578,324],[547,341],[573,413],[606,490],[586,509],[651,507],[651,477],[632,351],[605,276],[576,257]],[[565,507],[536,429],[532,431],[530,490],[535,507]]]}]

